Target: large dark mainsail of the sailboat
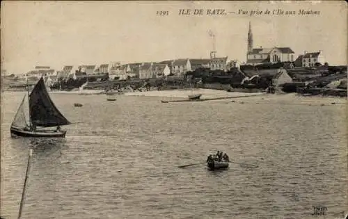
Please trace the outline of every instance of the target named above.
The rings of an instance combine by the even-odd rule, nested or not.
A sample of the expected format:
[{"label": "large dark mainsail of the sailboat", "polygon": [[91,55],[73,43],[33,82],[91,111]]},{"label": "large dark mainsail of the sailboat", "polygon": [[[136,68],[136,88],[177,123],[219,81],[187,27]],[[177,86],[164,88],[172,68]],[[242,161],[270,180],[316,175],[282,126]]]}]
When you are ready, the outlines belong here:
[{"label": "large dark mainsail of the sailboat", "polygon": [[41,77],[29,95],[31,123],[38,127],[56,127],[70,122],[54,106]]}]

